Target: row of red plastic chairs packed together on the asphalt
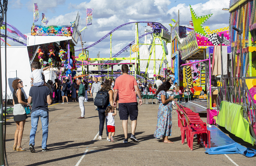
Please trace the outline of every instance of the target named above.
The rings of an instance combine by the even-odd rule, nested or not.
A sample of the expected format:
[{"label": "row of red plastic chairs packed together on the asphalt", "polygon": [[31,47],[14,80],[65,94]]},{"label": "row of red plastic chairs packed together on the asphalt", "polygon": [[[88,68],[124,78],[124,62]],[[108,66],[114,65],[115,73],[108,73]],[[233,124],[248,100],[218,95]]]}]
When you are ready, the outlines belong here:
[{"label": "row of red plastic chairs packed together on the asphalt", "polygon": [[[182,105],[177,105],[178,113],[178,126],[181,131],[182,144],[185,141],[185,134],[188,143],[188,147],[193,150],[194,135],[197,134],[197,144],[200,143],[201,138],[205,147],[209,145],[210,148],[210,131],[207,130],[206,123],[204,123],[198,113],[192,112],[189,108],[185,108]],[[183,112],[183,114],[181,114]]]}]

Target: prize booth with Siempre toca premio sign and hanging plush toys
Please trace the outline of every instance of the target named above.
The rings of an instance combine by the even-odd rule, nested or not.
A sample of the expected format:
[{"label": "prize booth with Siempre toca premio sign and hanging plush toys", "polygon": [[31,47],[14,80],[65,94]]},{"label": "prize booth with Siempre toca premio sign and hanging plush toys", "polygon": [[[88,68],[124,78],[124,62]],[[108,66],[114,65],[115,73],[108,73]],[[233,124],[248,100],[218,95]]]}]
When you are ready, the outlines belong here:
[{"label": "prize booth with Siempre toca premio sign and hanging plush toys", "polygon": [[74,46],[79,36],[78,24],[79,15],[69,26],[33,25],[31,36],[27,39],[30,64],[39,62],[42,67],[51,66],[58,78],[61,78],[61,74],[73,77],[77,69]]}]

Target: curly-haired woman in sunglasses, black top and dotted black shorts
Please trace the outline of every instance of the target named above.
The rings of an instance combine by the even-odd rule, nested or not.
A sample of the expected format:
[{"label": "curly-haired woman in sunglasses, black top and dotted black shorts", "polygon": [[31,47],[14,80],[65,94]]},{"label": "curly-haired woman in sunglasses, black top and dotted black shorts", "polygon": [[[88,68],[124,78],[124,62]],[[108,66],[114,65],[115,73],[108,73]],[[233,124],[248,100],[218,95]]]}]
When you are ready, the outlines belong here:
[{"label": "curly-haired woman in sunglasses, black top and dotted black shorts", "polygon": [[25,102],[25,96],[22,92],[21,88],[23,88],[23,82],[20,79],[15,79],[13,81],[12,87],[14,89],[13,91],[13,119],[16,122],[16,131],[14,135],[14,145],[13,150],[17,151],[25,151],[26,149],[23,149],[21,145],[21,140],[23,136],[23,129],[26,122],[27,114],[25,111],[24,106],[31,107],[30,104]]}]

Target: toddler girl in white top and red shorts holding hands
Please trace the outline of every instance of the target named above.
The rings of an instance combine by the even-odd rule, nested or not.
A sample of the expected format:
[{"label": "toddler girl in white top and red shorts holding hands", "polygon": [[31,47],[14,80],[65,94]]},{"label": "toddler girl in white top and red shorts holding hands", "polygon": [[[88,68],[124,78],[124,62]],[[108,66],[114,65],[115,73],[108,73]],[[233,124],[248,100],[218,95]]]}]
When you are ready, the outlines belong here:
[{"label": "toddler girl in white top and red shorts holding hands", "polygon": [[115,135],[115,120],[114,117],[116,115],[116,110],[110,105],[106,108],[105,115],[107,118],[107,128],[109,132],[109,142],[114,142],[113,136]]}]

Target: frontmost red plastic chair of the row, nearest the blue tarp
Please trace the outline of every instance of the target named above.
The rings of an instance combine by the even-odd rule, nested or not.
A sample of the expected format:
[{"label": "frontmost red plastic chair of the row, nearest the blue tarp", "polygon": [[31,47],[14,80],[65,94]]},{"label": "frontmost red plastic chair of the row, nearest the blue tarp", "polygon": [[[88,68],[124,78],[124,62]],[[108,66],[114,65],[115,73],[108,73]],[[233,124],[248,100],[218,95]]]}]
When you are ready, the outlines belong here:
[{"label": "frontmost red plastic chair of the row, nearest the blue tarp", "polygon": [[187,123],[187,142],[189,145],[189,148],[193,150],[193,142],[194,142],[194,135],[197,134],[197,144],[200,143],[201,138],[204,142],[205,147],[207,148],[209,145],[209,148],[211,147],[211,137],[210,137],[210,131],[207,130],[206,123],[204,122],[192,122],[187,114],[184,114],[186,123]]}]

